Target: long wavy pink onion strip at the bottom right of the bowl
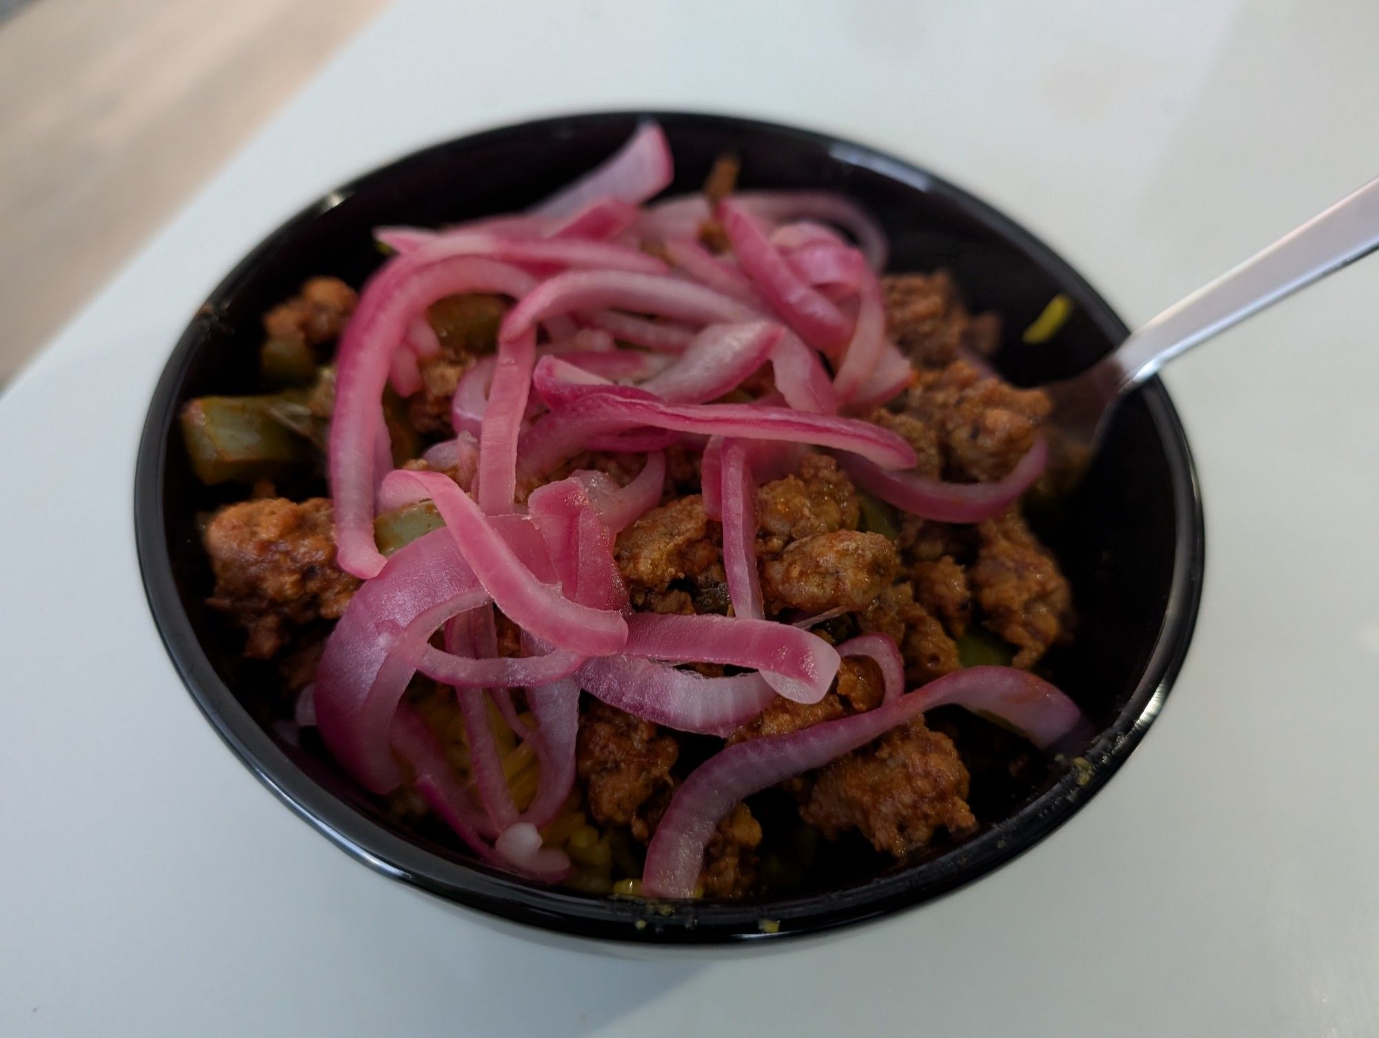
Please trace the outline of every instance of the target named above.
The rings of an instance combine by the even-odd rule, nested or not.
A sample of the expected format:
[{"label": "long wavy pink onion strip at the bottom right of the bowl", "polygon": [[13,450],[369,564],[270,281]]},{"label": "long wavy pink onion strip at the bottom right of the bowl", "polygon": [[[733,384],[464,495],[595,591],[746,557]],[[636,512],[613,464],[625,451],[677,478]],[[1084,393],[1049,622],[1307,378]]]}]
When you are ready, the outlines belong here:
[{"label": "long wavy pink onion strip at the bottom right of the bowl", "polygon": [[1071,700],[1027,671],[972,667],[866,714],[738,743],[701,765],[676,791],[647,848],[643,890],[655,897],[690,897],[703,865],[703,849],[734,805],[790,776],[822,767],[945,704],[994,715],[1040,748],[1067,736],[1083,721]]}]

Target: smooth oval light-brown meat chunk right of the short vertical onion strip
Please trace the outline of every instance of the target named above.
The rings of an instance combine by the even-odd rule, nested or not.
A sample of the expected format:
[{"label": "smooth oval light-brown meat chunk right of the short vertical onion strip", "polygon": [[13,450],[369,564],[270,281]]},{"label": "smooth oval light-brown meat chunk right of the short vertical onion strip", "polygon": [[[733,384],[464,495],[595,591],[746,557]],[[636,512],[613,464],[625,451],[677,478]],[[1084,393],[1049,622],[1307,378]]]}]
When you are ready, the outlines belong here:
[{"label": "smooth oval light-brown meat chunk right of the short vertical onion strip", "polygon": [[863,609],[895,580],[899,565],[895,544],[878,533],[821,533],[767,562],[761,591],[771,610]]}]

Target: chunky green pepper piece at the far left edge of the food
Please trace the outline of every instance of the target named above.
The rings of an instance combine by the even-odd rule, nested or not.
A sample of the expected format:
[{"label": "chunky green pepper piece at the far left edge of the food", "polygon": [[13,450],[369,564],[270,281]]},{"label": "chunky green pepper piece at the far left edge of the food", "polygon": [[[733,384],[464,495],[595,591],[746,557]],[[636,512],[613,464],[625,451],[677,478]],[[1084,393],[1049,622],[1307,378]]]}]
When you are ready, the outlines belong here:
[{"label": "chunky green pepper piece at the far left edge of the food", "polygon": [[208,486],[252,482],[312,456],[273,414],[274,396],[203,396],[182,409],[182,438],[196,478]]}]

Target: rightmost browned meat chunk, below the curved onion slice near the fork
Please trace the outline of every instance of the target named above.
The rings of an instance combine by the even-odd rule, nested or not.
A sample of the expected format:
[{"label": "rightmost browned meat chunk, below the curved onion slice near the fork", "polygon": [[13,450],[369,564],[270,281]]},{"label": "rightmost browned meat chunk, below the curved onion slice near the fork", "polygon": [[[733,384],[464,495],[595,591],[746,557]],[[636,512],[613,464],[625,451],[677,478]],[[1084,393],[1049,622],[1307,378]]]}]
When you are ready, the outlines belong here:
[{"label": "rightmost browned meat chunk, below the curved onion slice near the fork", "polygon": [[1016,508],[976,531],[980,548],[968,580],[983,621],[1019,650],[1016,667],[1033,667],[1071,623],[1067,578]]}]

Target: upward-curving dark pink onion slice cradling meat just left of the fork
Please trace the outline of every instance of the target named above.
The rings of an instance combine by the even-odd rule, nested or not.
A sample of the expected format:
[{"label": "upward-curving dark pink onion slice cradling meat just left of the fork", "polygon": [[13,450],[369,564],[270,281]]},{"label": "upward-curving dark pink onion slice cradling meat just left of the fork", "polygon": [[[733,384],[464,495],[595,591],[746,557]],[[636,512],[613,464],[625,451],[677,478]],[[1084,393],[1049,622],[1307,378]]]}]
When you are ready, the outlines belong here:
[{"label": "upward-curving dark pink onion slice cradling meat just left of the fork", "polygon": [[914,472],[884,472],[855,454],[838,456],[852,482],[869,494],[940,523],[979,523],[1000,515],[1040,478],[1047,461],[1048,444],[1040,438],[1011,473],[994,483],[946,483]]}]

